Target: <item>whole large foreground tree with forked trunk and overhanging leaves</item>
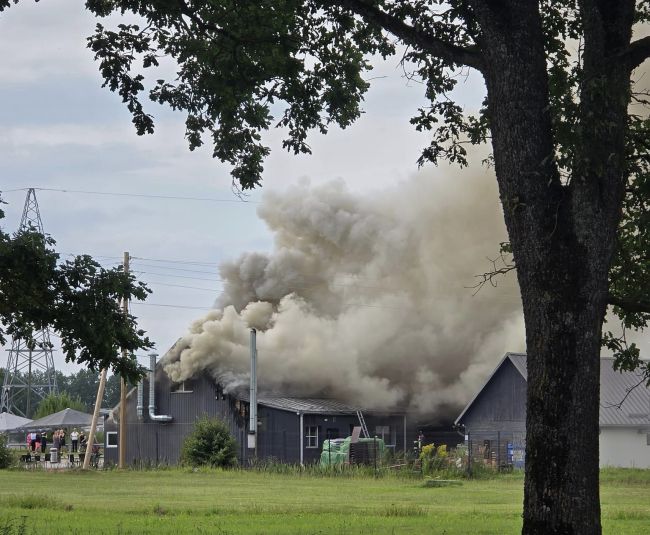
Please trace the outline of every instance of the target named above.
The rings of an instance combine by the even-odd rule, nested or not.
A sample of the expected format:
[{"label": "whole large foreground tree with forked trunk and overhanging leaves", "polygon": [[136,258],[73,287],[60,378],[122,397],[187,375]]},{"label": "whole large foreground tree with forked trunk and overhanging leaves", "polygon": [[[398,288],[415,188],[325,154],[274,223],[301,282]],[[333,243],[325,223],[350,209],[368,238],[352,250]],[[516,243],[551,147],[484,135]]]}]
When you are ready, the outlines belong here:
[{"label": "whole large foreground tree with forked trunk and overhanging leaves", "polygon": [[[0,0],[0,6],[9,0]],[[648,319],[648,121],[631,79],[650,54],[632,41],[647,0],[87,0],[90,46],[139,133],[153,131],[142,69],[178,64],[149,97],[187,112],[190,148],[206,138],[243,189],[261,183],[264,130],[310,152],[310,130],[360,114],[373,56],[403,54],[430,105],[420,163],[466,164],[489,139],[521,288],[528,351],[524,533],[599,533],[599,355],[608,303],[627,327]],[[448,99],[460,69],[487,98],[467,116]],[[637,100],[643,103],[643,97]],[[271,110],[284,106],[279,118]],[[478,107],[478,106],[477,106]],[[625,219],[622,221],[622,215]],[[645,218],[645,220],[643,219]],[[644,223],[645,221],[645,223]],[[612,283],[609,283],[611,276]],[[639,364],[624,339],[606,342]]]}]

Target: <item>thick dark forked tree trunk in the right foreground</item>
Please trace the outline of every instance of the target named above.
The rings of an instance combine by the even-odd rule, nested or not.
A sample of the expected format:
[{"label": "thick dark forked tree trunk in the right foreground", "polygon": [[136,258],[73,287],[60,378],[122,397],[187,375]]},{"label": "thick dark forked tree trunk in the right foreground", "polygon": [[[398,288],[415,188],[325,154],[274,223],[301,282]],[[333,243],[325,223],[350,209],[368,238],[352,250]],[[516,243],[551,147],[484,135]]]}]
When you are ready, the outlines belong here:
[{"label": "thick dark forked tree trunk in the right foreground", "polygon": [[631,18],[629,0],[593,4],[581,6],[592,8],[584,15],[584,133],[576,135],[566,181],[554,163],[539,6],[473,2],[495,170],[526,324],[524,534],[601,533],[600,339],[624,191],[629,99],[629,72],[606,58],[629,42],[624,27]]}]

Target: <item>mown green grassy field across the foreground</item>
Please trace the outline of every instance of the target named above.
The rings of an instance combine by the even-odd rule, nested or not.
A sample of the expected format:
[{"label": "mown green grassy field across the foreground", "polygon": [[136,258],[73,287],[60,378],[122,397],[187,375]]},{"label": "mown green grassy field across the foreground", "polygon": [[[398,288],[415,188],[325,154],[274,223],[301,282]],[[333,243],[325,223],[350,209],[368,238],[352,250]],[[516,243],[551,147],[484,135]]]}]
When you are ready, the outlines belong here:
[{"label": "mown green grassy field across the foreground", "polygon": [[[602,475],[605,533],[650,530],[650,471]],[[422,479],[253,471],[0,471],[0,534],[507,534],[521,475],[428,488]]]}]

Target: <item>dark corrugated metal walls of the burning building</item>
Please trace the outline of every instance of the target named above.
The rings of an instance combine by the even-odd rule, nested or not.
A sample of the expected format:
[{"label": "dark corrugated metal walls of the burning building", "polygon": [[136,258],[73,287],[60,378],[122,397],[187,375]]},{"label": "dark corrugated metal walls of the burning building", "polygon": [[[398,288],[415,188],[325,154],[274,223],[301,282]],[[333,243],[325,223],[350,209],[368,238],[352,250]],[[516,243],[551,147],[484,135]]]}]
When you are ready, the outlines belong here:
[{"label": "dark corrugated metal walls of the burning building", "polygon": [[[127,451],[126,462],[130,465],[177,464],[185,437],[192,431],[196,419],[204,414],[217,416],[228,425],[238,443],[241,462],[248,460],[248,403],[224,395],[214,382],[206,377],[192,380],[191,391],[172,392],[171,382],[159,368],[156,371],[156,413],[173,417],[169,423],[156,423],[149,419],[149,381],[144,381],[144,419],[136,414],[137,396],[133,392],[127,399]],[[323,441],[327,438],[349,436],[351,429],[359,425],[355,415],[306,414],[303,428],[300,415],[260,405],[258,408],[258,458],[275,459],[288,463],[300,462],[300,438],[303,434],[303,461],[320,459]],[[401,415],[366,415],[370,434],[377,425],[389,427],[391,439],[397,450],[404,447],[404,419]],[[318,446],[308,448],[305,440],[307,426],[318,428]],[[106,431],[117,431],[116,425],[107,423]],[[116,464],[118,449],[105,450],[105,462]]]}]

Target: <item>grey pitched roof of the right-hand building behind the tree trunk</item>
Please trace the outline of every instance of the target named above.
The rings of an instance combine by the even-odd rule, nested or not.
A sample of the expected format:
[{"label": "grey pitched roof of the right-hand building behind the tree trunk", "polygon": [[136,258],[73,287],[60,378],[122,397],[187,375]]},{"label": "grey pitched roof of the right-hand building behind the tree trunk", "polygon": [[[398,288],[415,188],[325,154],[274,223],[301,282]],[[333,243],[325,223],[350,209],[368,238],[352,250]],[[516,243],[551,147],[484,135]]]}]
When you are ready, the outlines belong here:
[{"label": "grey pitched roof of the right-hand building behind the tree trunk", "polygon": [[[456,419],[456,424],[472,406],[476,398],[490,382],[494,374],[509,360],[525,381],[528,380],[525,353],[506,353],[496,366],[483,387],[463,409]],[[600,413],[598,423],[601,427],[609,426],[649,426],[650,425],[650,388],[646,387],[639,372],[618,372],[612,367],[611,357],[600,359]]]}]

